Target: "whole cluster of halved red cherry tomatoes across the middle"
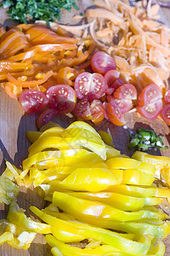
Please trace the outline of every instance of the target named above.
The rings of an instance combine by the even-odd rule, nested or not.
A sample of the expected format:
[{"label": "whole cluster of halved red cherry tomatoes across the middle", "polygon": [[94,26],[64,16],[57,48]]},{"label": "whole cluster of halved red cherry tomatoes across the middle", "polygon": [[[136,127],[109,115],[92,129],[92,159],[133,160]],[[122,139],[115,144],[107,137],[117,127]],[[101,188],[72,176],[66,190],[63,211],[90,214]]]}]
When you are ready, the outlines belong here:
[{"label": "whole cluster of halved red cherry tomatoes across the middle", "polygon": [[[147,85],[137,96],[133,84],[126,84],[116,71],[116,61],[111,55],[98,51],[91,59],[92,73],[77,75],[74,89],[68,84],[57,84],[48,88],[46,94],[39,90],[24,90],[20,103],[26,113],[44,110],[37,118],[37,126],[47,123],[56,113],[74,111],[78,118],[99,124],[104,118],[114,125],[126,123],[123,113],[133,105],[147,119],[162,119],[170,125],[170,90],[162,101],[162,92],[156,84]],[[137,103],[138,97],[138,103]],[[164,106],[163,106],[164,105]]]}]

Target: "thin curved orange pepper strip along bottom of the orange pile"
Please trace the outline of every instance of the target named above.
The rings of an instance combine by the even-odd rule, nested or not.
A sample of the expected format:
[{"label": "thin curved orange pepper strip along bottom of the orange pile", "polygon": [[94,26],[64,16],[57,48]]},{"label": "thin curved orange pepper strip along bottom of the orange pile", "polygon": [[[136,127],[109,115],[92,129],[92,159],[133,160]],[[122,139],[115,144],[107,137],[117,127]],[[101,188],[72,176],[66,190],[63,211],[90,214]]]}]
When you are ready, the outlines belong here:
[{"label": "thin curved orange pepper strip along bottom of the orange pile", "polygon": [[21,86],[21,87],[34,87],[36,85],[39,85],[39,84],[43,84],[45,83],[51,76],[53,75],[53,71],[50,70],[48,71],[48,73],[45,74],[44,78],[43,79],[39,79],[39,80],[32,80],[32,81],[20,81],[18,79],[15,79],[11,74],[7,74],[7,79],[9,82],[15,84],[15,85],[18,85],[18,86]]}]

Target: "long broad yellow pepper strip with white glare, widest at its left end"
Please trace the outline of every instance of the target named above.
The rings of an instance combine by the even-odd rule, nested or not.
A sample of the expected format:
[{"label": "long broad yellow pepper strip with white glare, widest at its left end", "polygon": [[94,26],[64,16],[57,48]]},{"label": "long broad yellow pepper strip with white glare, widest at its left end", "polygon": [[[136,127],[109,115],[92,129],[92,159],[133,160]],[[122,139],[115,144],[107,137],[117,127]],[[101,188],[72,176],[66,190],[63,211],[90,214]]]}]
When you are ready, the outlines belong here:
[{"label": "long broad yellow pepper strip with white glare, widest at its left end", "polygon": [[[168,215],[162,212],[140,210],[138,212],[124,212],[98,201],[88,201],[77,197],[54,192],[53,204],[62,211],[73,215],[75,218],[93,224],[94,219],[116,220],[117,222],[138,221],[139,219],[156,218],[165,219]],[[79,207],[77,207],[79,206]]]}]

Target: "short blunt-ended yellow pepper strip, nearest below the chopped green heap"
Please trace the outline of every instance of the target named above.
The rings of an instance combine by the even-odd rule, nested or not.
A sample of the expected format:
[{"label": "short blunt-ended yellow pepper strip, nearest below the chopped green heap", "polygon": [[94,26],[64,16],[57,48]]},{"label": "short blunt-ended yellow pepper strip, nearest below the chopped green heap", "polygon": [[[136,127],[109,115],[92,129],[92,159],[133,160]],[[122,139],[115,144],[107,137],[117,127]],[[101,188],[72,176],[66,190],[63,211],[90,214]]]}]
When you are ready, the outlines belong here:
[{"label": "short blunt-ended yellow pepper strip, nearest below the chopped green heap", "polygon": [[105,162],[111,169],[138,169],[144,173],[154,175],[155,167],[150,163],[143,163],[131,158],[112,158]]}]

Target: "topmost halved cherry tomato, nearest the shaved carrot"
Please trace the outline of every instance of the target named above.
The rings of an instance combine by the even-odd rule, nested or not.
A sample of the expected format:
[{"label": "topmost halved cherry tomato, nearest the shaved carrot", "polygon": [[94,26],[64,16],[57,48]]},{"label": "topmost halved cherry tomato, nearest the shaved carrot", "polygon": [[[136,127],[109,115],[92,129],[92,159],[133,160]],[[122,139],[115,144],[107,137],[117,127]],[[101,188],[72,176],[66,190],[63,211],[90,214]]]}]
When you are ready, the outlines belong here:
[{"label": "topmost halved cherry tomato, nearest the shaved carrot", "polygon": [[104,51],[98,51],[92,57],[91,67],[94,72],[105,74],[111,69],[116,69],[116,61]]}]

